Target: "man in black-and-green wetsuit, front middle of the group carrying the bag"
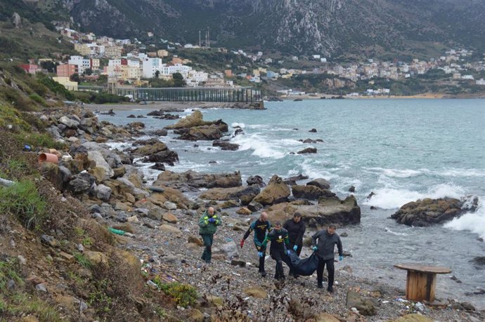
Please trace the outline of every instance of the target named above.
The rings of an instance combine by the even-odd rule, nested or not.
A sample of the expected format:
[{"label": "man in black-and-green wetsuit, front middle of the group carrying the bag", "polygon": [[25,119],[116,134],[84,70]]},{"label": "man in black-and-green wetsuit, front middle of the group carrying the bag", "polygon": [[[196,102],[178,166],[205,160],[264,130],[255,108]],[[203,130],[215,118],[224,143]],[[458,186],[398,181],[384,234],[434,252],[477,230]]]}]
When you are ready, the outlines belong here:
[{"label": "man in black-and-green wetsuit, front middle of the group carrying the bag", "polygon": [[283,228],[281,222],[275,222],[273,230],[266,235],[266,239],[263,241],[264,247],[266,247],[268,241],[271,241],[269,255],[276,261],[275,279],[284,280],[283,262],[290,266],[291,260],[288,257],[290,250],[287,249],[287,246],[290,244],[288,232]]}]

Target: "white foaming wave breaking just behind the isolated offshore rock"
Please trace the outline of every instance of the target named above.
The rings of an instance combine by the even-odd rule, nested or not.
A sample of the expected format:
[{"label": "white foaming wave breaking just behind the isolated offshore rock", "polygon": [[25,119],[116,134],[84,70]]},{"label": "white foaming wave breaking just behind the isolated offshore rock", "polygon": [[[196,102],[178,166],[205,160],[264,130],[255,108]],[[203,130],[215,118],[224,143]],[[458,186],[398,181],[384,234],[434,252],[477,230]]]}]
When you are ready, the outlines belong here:
[{"label": "white foaming wave breaking just behind the isolated offshore rock", "polygon": [[465,190],[452,184],[436,185],[428,189],[427,192],[415,192],[408,189],[399,189],[394,187],[384,187],[374,190],[375,195],[371,199],[366,199],[364,205],[374,206],[382,209],[396,209],[411,201],[425,198],[458,198],[460,199]]}]

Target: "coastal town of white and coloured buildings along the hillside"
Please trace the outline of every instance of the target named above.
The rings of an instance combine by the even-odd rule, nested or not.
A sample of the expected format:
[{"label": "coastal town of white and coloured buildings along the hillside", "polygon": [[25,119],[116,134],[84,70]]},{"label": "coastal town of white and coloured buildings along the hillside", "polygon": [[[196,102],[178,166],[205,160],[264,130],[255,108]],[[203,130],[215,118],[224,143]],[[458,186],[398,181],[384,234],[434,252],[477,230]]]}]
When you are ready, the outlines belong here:
[{"label": "coastal town of white and coloured buildings along the hillside", "polygon": [[[293,55],[287,60],[271,58],[266,53],[247,53],[241,49],[230,51],[241,55],[245,65],[226,65],[226,69],[203,70],[193,67],[193,61],[173,54],[172,51],[216,51],[228,53],[226,48],[211,48],[207,41],[198,45],[182,45],[160,39],[160,45],[145,45],[137,39],[113,39],[108,36],[96,36],[73,29],[58,27],[62,36],[59,41],[69,41],[79,55],[56,53],[56,58],[31,59],[28,64],[20,65],[25,72],[48,72],[50,66],[55,74],[54,80],[69,90],[79,90],[79,85],[93,83],[108,86],[156,87],[150,80],[172,80],[174,74],[183,78],[182,86],[203,88],[237,88],[241,83],[247,86],[260,86],[261,82],[278,82],[279,89],[274,89],[281,98],[295,98],[308,95],[304,90],[285,87],[285,80],[301,75],[325,75],[330,79],[332,88],[344,88],[349,82],[367,83],[361,91],[346,88],[342,93],[349,98],[362,96],[400,95],[392,88],[375,86],[375,79],[399,81],[406,79],[427,78],[439,74],[446,79],[444,86],[474,86],[477,90],[485,88],[485,53],[474,53],[465,48],[449,49],[443,55],[429,60],[413,59],[409,62],[399,60],[382,61],[369,58],[362,62],[330,62],[328,58],[315,54],[311,56]],[[149,37],[154,37],[148,33]],[[311,68],[290,68],[299,61],[311,62]],[[55,67],[55,68],[54,68]],[[179,77],[180,77],[179,76]],[[328,81],[328,80],[327,80]],[[481,87],[484,86],[484,87]],[[316,95],[317,93],[313,93]]]}]

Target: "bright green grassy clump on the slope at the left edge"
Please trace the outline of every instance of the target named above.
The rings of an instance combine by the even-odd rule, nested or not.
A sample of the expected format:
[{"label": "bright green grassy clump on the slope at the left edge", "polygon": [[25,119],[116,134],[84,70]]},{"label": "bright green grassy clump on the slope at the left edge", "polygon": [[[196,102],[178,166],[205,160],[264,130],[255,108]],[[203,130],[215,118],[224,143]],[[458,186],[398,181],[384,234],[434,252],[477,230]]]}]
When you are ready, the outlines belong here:
[{"label": "bright green grassy clump on the slope at the left edge", "polygon": [[27,229],[39,229],[47,217],[46,201],[32,181],[16,182],[0,189],[0,213],[11,213]]}]

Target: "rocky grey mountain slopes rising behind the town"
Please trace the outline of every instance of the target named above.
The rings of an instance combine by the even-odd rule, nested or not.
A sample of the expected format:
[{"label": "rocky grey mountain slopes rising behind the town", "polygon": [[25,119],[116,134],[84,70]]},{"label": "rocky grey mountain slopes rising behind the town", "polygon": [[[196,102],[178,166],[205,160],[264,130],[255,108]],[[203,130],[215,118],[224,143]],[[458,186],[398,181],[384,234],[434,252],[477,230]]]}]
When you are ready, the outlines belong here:
[{"label": "rocky grey mountain slopes rising behind the town", "polygon": [[[8,0],[11,1],[11,0]],[[79,29],[146,32],[181,43],[326,56],[485,48],[484,0],[39,0],[63,4]],[[32,1],[27,1],[32,3]]]}]

